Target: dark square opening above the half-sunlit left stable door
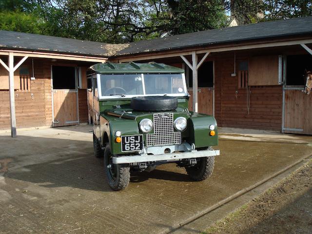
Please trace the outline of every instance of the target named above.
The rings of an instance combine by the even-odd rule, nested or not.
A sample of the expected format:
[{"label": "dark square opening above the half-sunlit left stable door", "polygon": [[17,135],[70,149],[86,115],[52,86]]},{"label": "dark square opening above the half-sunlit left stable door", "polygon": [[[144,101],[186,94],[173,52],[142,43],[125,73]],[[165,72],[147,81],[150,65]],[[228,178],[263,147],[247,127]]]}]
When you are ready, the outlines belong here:
[{"label": "dark square opening above the half-sunlit left stable door", "polygon": [[76,68],[52,66],[53,89],[76,89]]}]

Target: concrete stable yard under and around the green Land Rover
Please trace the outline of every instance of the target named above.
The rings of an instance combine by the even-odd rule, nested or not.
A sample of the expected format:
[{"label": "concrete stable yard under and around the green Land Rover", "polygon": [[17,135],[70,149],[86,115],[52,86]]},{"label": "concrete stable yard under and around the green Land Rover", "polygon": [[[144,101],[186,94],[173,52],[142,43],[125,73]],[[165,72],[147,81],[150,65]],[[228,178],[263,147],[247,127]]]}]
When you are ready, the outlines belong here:
[{"label": "concrete stable yard under and around the green Land Rover", "polygon": [[222,129],[208,180],[162,165],[112,192],[91,129],[0,134],[1,233],[168,233],[312,154],[312,137]]}]

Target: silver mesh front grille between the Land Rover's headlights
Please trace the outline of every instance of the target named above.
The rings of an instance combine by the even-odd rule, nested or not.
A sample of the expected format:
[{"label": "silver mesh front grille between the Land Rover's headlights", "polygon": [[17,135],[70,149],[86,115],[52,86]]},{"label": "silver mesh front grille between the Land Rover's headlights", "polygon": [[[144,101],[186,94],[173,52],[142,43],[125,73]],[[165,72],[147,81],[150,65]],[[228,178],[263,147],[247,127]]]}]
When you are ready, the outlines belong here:
[{"label": "silver mesh front grille between the Land Rover's headlights", "polygon": [[146,146],[181,144],[181,132],[174,132],[174,114],[154,114],[154,133],[146,134]]}]

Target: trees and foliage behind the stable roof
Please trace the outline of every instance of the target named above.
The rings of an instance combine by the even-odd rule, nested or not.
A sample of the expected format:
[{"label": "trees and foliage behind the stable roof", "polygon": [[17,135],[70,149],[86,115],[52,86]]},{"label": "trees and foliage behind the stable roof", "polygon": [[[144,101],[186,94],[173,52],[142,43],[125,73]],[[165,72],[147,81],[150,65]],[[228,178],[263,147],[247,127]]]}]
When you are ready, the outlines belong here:
[{"label": "trees and foliage behind the stable roof", "polygon": [[312,15],[311,0],[0,0],[0,29],[122,43]]}]

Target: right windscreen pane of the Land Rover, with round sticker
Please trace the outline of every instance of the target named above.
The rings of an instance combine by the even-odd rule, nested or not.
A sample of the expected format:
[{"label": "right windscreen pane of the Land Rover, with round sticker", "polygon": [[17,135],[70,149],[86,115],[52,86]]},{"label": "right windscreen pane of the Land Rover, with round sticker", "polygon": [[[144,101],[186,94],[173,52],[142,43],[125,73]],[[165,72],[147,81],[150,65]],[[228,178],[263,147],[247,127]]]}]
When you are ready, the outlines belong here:
[{"label": "right windscreen pane of the Land Rover, with round sticker", "polygon": [[184,94],[182,74],[144,74],[146,94]]}]

